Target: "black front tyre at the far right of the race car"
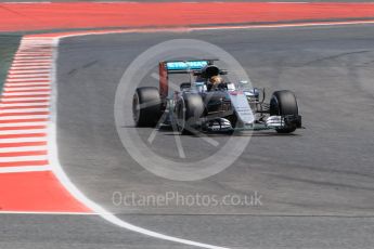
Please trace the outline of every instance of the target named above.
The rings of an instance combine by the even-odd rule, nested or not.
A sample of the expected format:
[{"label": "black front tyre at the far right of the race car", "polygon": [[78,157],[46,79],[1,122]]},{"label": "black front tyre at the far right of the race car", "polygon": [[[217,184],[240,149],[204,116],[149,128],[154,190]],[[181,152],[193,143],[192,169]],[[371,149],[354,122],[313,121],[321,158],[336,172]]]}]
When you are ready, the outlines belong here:
[{"label": "black front tyre at the far right of the race car", "polygon": [[[270,116],[298,115],[296,96],[292,91],[283,90],[273,93],[270,100]],[[296,126],[275,129],[279,133],[292,133]]]}]

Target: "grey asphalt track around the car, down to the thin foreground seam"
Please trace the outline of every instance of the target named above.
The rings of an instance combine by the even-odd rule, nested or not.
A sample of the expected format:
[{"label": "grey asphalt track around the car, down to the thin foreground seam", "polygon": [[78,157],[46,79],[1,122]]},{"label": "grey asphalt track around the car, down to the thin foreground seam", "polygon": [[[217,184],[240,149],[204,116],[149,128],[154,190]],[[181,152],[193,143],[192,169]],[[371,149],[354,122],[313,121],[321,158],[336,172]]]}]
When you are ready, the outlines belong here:
[{"label": "grey asphalt track around the car, down to the thin foreground seam", "polygon": [[[118,213],[372,214],[373,30],[372,26],[354,26],[63,40],[57,63],[62,165],[88,196]],[[269,92],[295,91],[307,129],[286,136],[255,133],[232,167],[205,181],[167,181],[139,167],[115,130],[116,88],[140,53],[176,38],[205,40],[223,48],[238,60],[256,87],[266,87]],[[157,86],[156,79],[145,81]],[[130,101],[125,104],[131,108]],[[138,131],[146,140],[153,130]],[[237,140],[243,137],[246,134]],[[224,144],[228,136],[214,139]],[[186,160],[196,161],[217,150],[195,136],[183,136],[182,144]],[[168,132],[159,132],[152,149],[178,160],[175,137]],[[175,206],[128,209],[112,204],[116,191],[219,196],[258,192],[265,204],[196,210]]]}]

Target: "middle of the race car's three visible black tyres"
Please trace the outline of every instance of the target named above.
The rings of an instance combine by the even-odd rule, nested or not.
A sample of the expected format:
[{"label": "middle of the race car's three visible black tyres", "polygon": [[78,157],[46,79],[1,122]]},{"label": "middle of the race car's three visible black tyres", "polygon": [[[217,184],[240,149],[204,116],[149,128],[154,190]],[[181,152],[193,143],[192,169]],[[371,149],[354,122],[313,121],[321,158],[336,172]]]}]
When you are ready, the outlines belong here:
[{"label": "middle of the race car's three visible black tyres", "polygon": [[177,101],[175,120],[181,134],[195,134],[196,124],[204,113],[204,102],[201,95],[183,93]]}]

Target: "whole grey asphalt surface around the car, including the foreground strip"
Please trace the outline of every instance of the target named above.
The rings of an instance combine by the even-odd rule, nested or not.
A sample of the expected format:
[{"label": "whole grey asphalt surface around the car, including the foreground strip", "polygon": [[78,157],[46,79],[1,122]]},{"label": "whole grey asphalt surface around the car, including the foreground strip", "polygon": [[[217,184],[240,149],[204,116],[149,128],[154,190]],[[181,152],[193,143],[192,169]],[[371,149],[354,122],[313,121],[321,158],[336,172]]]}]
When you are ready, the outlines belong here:
[{"label": "whole grey asphalt surface around the car, including the foreground strip", "polygon": [[[373,25],[360,25],[64,39],[56,78],[61,163],[93,201],[168,235],[243,249],[373,248]],[[114,96],[125,69],[140,53],[176,38],[224,49],[256,87],[295,91],[307,129],[295,135],[255,134],[229,169],[206,180],[176,182],[144,170],[119,141]],[[156,84],[151,77],[145,81]],[[144,140],[151,132],[139,129]],[[182,144],[189,160],[215,150],[194,136],[183,136]],[[175,147],[168,131],[152,145],[164,157],[180,160]],[[125,207],[113,204],[114,192],[219,198],[257,192],[261,205]],[[2,218],[0,248],[189,248],[117,228],[94,215]]]}]

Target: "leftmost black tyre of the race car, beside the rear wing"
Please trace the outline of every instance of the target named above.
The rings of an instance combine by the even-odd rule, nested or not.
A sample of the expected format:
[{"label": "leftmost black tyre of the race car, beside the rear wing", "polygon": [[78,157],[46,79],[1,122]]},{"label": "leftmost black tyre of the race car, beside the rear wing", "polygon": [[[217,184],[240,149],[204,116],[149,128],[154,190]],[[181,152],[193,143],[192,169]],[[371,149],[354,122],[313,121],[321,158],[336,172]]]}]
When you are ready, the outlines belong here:
[{"label": "leftmost black tyre of the race car, beside the rear wing", "polygon": [[132,117],[137,127],[155,127],[162,116],[157,88],[138,88],[132,97]]}]

